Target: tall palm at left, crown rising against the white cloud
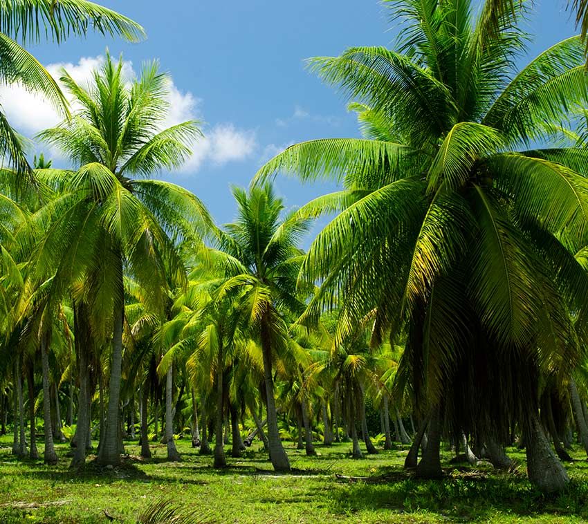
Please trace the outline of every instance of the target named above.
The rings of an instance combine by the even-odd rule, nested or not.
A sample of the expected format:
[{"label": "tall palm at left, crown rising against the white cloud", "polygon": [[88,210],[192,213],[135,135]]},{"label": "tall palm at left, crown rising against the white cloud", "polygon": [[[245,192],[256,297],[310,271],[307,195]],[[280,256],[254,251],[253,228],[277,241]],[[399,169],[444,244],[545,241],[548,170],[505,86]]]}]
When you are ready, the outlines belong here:
[{"label": "tall palm at left, crown rising against the white cloud", "polygon": [[[156,63],[145,65],[140,78],[127,83],[122,58],[115,63],[107,55],[91,85],[80,86],[66,72],[62,82],[81,109],[39,138],[64,151],[77,171],[37,171],[57,198],[35,216],[37,223],[50,226],[32,265],[39,272],[57,268],[52,292],[71,290],[75,303],[87,310],[77,319],[90,325],[80,328],[89,329],[94,344],[111,341],[107,427],[98,461],[117,464],[123,273],[145,290],[151,310],[163,312],[168,282],[180,286],[185,281],[172,236],[199,234],[210,223],[205,207],[189,191],[145,177],[181,165],[200,131],[194,121],[163,129],[169,79]],[[143,179],[131,178],[137,175]]]}]

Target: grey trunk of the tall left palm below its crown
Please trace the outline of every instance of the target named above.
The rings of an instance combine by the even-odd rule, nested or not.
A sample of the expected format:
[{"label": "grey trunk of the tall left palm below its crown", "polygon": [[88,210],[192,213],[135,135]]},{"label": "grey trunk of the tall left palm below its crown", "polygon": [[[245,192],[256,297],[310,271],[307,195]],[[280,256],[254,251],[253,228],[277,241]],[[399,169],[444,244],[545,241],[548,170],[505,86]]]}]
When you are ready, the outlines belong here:
[{"label": "grey trunk of the tall left palm below its crown", "polygon": [[110,368],[107,421],[104,435],[100,435],[100,451],[98,451],[97,459],[100,465],[112,466],[120,464],[120,380],[122,377],[122,322],[125,315],[124,291],[122,289],[122,261],[118,270],[120,270],[120,275],[113,312],[112,362]]}]

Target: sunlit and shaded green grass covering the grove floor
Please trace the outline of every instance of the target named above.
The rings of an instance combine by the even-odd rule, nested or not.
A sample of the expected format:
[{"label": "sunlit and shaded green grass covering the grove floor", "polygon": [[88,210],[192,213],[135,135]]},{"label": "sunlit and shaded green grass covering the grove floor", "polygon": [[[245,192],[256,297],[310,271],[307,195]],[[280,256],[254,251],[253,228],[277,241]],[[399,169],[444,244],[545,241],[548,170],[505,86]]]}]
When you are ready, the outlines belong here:
[{"label": "sunlit and shaded green grass covering the grove floor", "polygon": [[[198,509],[203,522],[219,523],[588,521],[588,462],[579,449],[568,466],[571,485],[555,498],[531,488],[524,455],[514,450],[509,451],[519,462],[519,473],[498,475],[485,464],[457,465],[446,469],[444,480],[425,482],[403,471],[406,449],[351,460],[349,444],[318,446],[313,458],[288,445],[295,468],[291,475],[274,474],[257,443],[243,458],[230,458],[230,466],[222,471],[212,469],[212,458],[199,456],[187,440],[179,441],[178,449],[183,462],[165,462],[161,445],[154,445],[154,458],[143,461],[138,446],[127,443],[130,455],[121,467],[89,465],[83,474],[75,474],[68,471],[67,445],[57,446],[59,465],[49,468],[42,460],[15,460],[10,437],[2,437],[0,522],[108,523],[105,509],[115,522],[134,523],[145,505],[161,498]],[[336,474],[385,475],[387,480],[351,481]]]}]

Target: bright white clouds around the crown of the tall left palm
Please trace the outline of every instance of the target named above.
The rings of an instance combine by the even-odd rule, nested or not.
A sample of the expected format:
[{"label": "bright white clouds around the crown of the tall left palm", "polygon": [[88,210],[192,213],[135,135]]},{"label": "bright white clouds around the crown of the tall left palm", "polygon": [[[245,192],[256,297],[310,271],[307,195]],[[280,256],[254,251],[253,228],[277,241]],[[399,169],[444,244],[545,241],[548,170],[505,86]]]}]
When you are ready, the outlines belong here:
[{"label": "bright white clouds around the crown of the tall left palm", "polygon": [[[104,57],[82,57],[77,64],[57,62],[48,64],[47,71],[55,78],[62,76],[65,69],[78,84],[85,86],[91,81],[92,73],[104,63]],[[136,73],[133,64],[125,61],[123,64],[125,79],[133,79]],[[75,111],[75,103],[69,100]],[[53,127],[62,120],[62,115],[53,108],[44,97],[26,91],[19,85],[0,86],[0,104],[8,116],[9,122],[21,133],[33,136],[43,129]],[[169,113],[163,127],[169,127],[186,120],[203,120],[201,106],[203,101],[190,91],[180,91],[173,79],[169,84]],[[248,158],[255,151],[257,143],[254,131],[237,129],[234,124],[217,124],[210,130],[205,130],[205,138],[194,144],[194,153],[187,160],[181,171],[195,172],[204,162],[214,166],[222,166],[227,162],[237,162]],[[41,148],[42,149],[42,148]],[[53,158],[57,158],[57,151],[50,151]]]}]

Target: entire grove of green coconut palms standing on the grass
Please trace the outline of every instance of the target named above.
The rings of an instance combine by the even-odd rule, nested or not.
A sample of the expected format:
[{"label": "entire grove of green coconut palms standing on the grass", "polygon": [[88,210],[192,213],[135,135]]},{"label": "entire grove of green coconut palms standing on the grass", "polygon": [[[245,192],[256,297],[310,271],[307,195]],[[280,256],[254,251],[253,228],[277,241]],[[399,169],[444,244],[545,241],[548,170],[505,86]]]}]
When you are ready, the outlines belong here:
[{"label": "entire grove of green coconut palms standing on the grass", "polygon": [[[62,111],[37,139],[72,166],[31,167],[0,113],[0,424],[13,453],[37,458],[42,432],[50,465],[66,438],[76,468],[89,454],[118,465],[129,439],[181,460],[174,440],[190,433],[215,467],[229,442],[239,457],[259,438],[289,471],[284,441],[309,455],[313,440],[349,441],[360,458],[381,438],[436,478],[445,440],[497,469],[524,447],[531,483],[564,488],[566,448],[588,453],[585,46],[573,37],[520,67],[522,5],[385,7],[403,28],[393,50],[308,62],[363,138],[286,149],[232,190],[235,222],[218,227],[154,178],[201,136],[199,122],[165,127],[158,64],[129,79],[107,55],[88,84],[63,71],[64,94],[17,43],[143,29],[84,0],[0,6],[2,78]],[[286,214],[279,173],[342,189]]]}]

